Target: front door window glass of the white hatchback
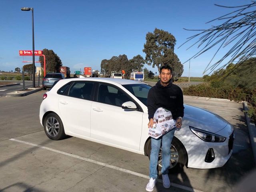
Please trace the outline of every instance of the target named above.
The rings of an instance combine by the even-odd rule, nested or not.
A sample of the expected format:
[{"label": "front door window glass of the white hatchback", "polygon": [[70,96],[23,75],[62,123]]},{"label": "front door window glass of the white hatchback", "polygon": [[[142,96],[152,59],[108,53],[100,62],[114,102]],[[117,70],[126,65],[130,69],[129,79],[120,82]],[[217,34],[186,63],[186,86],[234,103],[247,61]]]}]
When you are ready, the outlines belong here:
[{"label": "front door window glass of the white hatchback", "polygon": [[131,99],[120,89],[107,84],[100,84],[98,89],[98,102],[115,106],[122,106]]}]

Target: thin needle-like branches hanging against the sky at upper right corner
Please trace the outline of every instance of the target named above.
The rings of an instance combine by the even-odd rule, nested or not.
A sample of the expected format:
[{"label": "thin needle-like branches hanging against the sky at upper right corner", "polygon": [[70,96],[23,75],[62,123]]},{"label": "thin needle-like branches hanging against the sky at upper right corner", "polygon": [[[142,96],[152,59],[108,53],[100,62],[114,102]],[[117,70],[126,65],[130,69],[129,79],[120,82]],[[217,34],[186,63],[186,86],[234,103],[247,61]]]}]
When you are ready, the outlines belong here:
[{"label": "thin needle-like branches hanging against the sky at upper right corner", "polygon": [[[200,48],[200,50],[191,58],[196,58],[204,52],[210,50],[211,48],[218,46],[216,47],[217,51],[215,52],[213,58],[210,60],[208,66],[205,68],[204,73],[206,71],[211,73],[217,67],[217,69],[224,68],[228,64],[237,60],[238,65],[236,65],[234,69],[238,69],[238,67],[242,65],[244,61],[256,55],[256,10],[253,9],[255,6],[255,1],[252,1],[251,4],[246,4],[242,6],[220,6],[224,8],[235,8],[236,10],[210,21],[223,21],[223,23],[218,26],[212,25],[211,28],[206,30],[193,30],[200,32],[196,35],[190,36],[188,40],[184,42],[184,44],[191,41],[192,39],[198,38],[198,40],[196,40],[196,42],[192,44],[192,46],[198,44],[198,48]],[[219,55],[220,49],[228,45],[232,46],[232,48],[224,53],[222,58],[220,58],[217,62],[210,65],[214,57],[217,54]],[[192,46],[190,46],[189,48],[191,48]],[[228,62],[224,62],[225,59],[228,59]],[[221,66],[219,67],[220,64]],[[248,67],[244,71],[245,73],[249,72],[253,68],[255,62],[247,64]]]}]

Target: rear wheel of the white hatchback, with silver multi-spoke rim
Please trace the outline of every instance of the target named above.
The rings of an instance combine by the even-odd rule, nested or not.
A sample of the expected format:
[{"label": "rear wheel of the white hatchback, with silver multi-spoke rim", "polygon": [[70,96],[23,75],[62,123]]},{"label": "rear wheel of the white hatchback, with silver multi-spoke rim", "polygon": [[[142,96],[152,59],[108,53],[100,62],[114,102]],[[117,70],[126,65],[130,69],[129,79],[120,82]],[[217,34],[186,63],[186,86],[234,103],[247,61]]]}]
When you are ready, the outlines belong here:
[{"label": "rear wheel of the white hatchback, with silver multi-spoke rim", "polygon": [[66,138],[62,121],[55,113],[50,113],[44,118],[44,132],[52,140]]}]

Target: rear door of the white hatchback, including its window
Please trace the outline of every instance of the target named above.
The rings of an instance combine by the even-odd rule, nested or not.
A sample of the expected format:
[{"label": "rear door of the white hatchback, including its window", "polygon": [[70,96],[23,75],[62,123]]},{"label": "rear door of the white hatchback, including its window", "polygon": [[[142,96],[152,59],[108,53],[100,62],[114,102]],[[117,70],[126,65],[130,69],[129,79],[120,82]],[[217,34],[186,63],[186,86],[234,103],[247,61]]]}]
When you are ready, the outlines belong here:
[{"label": "rear door of the white hatchback, including its window", "polygon": [[65,131],[90,137],[93,88],[94,82],[77,81],[70,86],[66,95],[59,96],[58,107]]}]

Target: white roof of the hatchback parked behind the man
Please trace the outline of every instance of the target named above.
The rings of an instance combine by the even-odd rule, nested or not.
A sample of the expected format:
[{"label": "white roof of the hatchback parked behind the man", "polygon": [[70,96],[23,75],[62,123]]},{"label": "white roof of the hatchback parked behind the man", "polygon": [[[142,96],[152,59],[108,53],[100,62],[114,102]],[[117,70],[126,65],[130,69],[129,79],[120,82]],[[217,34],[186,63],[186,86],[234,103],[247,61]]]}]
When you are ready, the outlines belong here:
[{"label": "white roof of the hatchback parked behind the man", "polygon": [[134,80],[128,80],[128,79],[117,79],[117,78],[70,78],[70,79],[63,79],[62,82],[71,82],[71,81],[96,81],[96,82],[105,82],[105,83],[117,83],[121,85],[127,85],[127,84],[145,84],[144,82],[138,82]]}]

